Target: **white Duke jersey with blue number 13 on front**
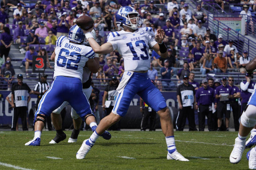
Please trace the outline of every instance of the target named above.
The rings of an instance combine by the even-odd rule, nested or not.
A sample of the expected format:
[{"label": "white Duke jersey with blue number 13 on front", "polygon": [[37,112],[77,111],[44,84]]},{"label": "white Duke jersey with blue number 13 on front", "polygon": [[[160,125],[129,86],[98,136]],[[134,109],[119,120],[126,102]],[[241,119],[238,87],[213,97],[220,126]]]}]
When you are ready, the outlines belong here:
[{"label": "white Duke jersey with blue number 13 on front", "polygon": [[149,70],[149,46],[157,44],[151,27],[138,28],[135,32],[110,32],[107,42],[123,57],[125,71]]}]

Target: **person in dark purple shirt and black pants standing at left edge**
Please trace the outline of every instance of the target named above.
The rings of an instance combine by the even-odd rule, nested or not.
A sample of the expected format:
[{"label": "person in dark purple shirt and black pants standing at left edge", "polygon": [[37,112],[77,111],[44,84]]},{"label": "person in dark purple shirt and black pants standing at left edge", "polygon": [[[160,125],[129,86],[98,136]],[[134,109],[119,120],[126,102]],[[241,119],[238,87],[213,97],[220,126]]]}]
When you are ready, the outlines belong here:
[{"label": "person in dark purple shirt and black pants standing at left edge", "polygon": [[12,40],[13,38],[10,35],[10,29],[8,27],[3,27],[3,33],[0,36],[0,52],[1,58],[5,55],[5,61],[10,52],[10,46],[13,43]]}]

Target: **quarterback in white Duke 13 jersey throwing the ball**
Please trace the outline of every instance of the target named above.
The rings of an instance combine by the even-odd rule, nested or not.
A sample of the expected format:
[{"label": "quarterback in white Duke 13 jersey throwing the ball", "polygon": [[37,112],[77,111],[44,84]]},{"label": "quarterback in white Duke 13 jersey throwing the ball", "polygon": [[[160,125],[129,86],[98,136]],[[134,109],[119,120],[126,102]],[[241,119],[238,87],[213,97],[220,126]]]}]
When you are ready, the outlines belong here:
[{"label": "quarterback in white Duke 13 jersey throwing the ball", "polygon": [[117,88],[118,96],[112,112],[101,120],[90,138],[83,141],[77,152],[77,159],[85,158],[99,135],[125,116],[132,98],[138,94],[149,107],[159,114],[167,144],[167,159],[189,161],[176,149],[170,110],[161,92],[147,76],[150,68],[149,46],[163,58],[168,55],[163,43],[165,36],[163,29],[158,29],[154,36],[152,28],[138,28],[141,25],[141,18],[139,18],[139,13],[130,6],[121,7],[115,18],[117,24],[120,24],[124,30],[111,32],[107,43],[101,46],[93,39],[90,30],[83,30],[95,53],[104,54],[118,50],[124,58],[125,72]]}]

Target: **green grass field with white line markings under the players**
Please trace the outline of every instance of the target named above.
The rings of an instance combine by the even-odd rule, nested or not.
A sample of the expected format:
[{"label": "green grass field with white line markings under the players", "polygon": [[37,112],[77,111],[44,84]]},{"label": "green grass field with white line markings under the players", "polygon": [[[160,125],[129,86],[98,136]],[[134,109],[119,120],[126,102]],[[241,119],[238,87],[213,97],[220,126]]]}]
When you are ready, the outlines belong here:
[{"label": "green grass field with white line markings under the players", "polygon": [[77,143],[68,143],[71,131],[65,133],[65,141],[49,144],[55,131],[43,131],[41,146],[25,146],[33,139],[33,131],[0,131],[0,169],[14,169],[3,164],[23,170],[248,169],[249,149],[245,149],[238,164],[229,162],[237,132],[175,132],[176,147],[190,162],[166,159],[166,141],[161,131],[110,131],[112,138],[109,141],[99,138],[82,160],[76,159],[76,152],[92,132],[81,131]]}]

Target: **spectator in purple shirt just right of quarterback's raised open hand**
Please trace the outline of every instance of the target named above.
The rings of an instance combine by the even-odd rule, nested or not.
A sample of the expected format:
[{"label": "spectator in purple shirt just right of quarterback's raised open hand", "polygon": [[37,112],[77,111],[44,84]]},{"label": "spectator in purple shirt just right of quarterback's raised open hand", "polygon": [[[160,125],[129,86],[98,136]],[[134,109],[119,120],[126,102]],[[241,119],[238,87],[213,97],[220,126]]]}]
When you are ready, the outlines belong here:
[{"label": "spectator in purple shirt just right of quarterback's raised open hand", "polygon": [[171,21],[167,19],[166,25],[163,26],[163,31],[165,31],[165,39],[163,40],[165,43],[169,43],[170,41],[175,41],[175,46],[178,44],[178,39],[175,39],[174,28],[171,26]]}]

